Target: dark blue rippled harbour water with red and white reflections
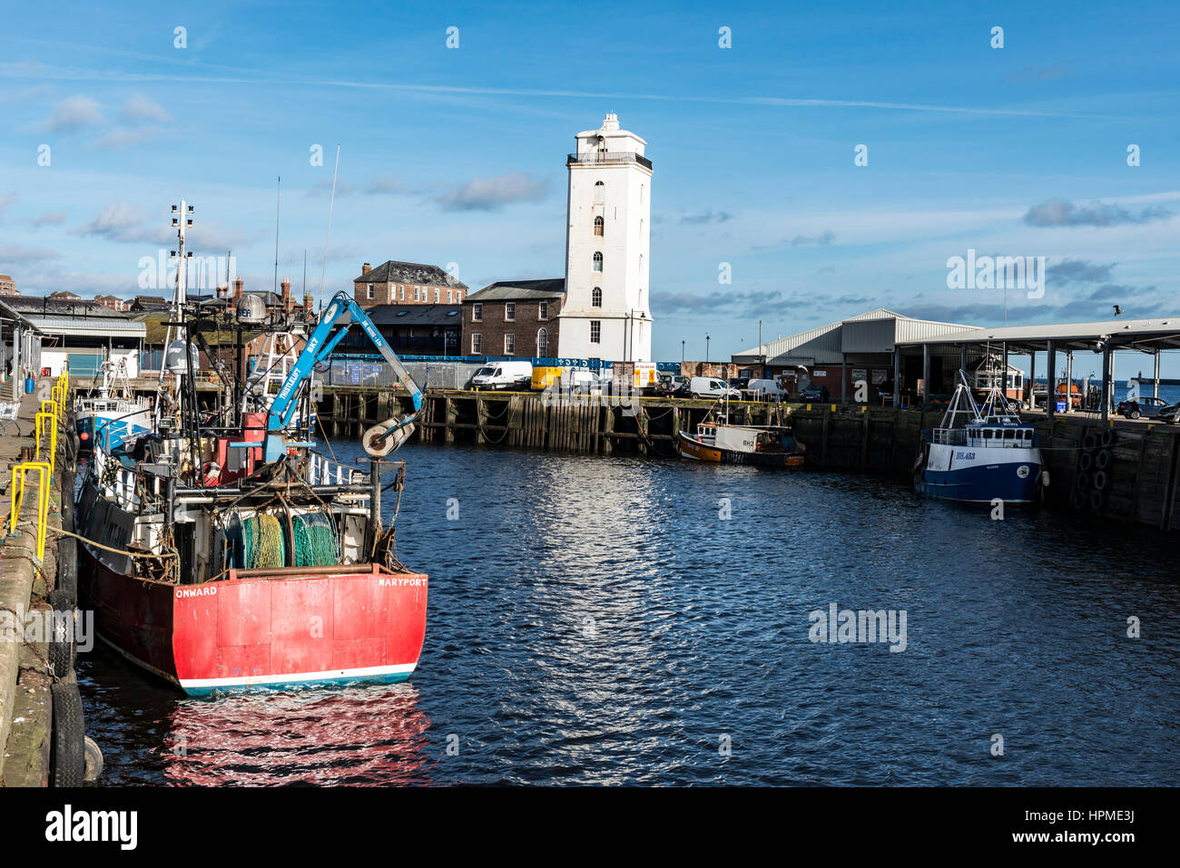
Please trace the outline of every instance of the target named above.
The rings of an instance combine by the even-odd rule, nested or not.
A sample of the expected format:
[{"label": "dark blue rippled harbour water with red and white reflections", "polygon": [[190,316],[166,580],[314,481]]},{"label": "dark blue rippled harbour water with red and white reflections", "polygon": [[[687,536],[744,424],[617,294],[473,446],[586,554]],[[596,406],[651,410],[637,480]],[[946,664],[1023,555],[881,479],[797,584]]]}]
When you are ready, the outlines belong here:
[{"label": "dark blue rippled harbour water with red and white reflections", "polygon": [[[1180,772],[1180,585],[1174,541],[1150,531],[1044,511],[992,521],[860,475],[463,446],[399,456],[399,554],[431,577],[413,679],[186,699],[96,650],[79,673],[103,783]],[[907,647],[811,642],[808,613],[831,603],[904,610]]]}]

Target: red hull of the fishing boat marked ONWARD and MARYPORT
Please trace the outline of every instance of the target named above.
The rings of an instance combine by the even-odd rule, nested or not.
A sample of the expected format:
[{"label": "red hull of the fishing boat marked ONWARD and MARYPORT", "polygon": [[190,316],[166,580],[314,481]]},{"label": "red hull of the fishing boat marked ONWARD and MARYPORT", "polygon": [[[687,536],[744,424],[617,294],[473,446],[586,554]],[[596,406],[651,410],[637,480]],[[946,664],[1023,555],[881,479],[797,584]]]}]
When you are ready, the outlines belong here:
[{"label": "red hull of the fishing boat marked ONWARD and MARYPORT", "polygon": [[79,590],[99,638],[191,696],[399,682],[418,665],[422,573],[360,567],[373,571],[172,585],[116,574],[80,550]]}]

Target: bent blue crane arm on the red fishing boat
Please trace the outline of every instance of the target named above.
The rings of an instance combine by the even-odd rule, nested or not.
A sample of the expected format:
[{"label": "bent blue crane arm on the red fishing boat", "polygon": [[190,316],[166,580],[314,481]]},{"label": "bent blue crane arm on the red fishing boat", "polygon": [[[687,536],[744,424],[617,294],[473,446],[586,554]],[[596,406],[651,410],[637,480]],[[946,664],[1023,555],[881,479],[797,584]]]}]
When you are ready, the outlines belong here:
[{"label": "bent blue crane arm on the red fishing boat", "polygon": [[[343,316],[345,313],[350,314],[352,322],[346,323],[336,329],[336,321]],[[407,413],[400,419],[391,420],[393,425],[391,429],[401,428],[409,422],[414,421],[418,416],[418,412],[422,408],[422,390],[418,388],[418,383],[406,370],[406,366],[402,364],[398,354],[393,351],[389,347],[389,342],[382,337],[381,333],[378,330],[373,321],[368,318],[368,315],[361,309],[361,307],[348,297],[347,292],[336,292],[324,308],[323,314],[320,316],[320,323],[315,327],[312,336],[307,340],[307,344],[303,347],[303,351],[300,353],[299,359],[295,360],[295,364],[287,373],[287,379],[283,380],[282,387],[278,389],[278,394],[275,395],[274,402],[270,405],[270,416],[267,420],[267,439],[268,443],[270,438],[281,436],[280,432],[290,425],[291,417],[295,415],[295,409],[297,402],[295,401],[299,395],[300,386],[312,375],[312,369],[320,361],[323,361],[332,355],[332,350],[336,348],[336,344],[343,340],[345,335],[348,334],[348,328],[353,323],[359,323],[368,335],[373,346],[378,348],[385,360],[393,368],[394,375],[398,377],[398,382],[401,383],[402,388],[409,393],[411,401],[413,402],[414,409]],[[277,454],[281,454],[281,445],[276,445],[274,449]],[[267,460],[274,460],[270,455],[273,452],[271,447],[267,448]]]}]

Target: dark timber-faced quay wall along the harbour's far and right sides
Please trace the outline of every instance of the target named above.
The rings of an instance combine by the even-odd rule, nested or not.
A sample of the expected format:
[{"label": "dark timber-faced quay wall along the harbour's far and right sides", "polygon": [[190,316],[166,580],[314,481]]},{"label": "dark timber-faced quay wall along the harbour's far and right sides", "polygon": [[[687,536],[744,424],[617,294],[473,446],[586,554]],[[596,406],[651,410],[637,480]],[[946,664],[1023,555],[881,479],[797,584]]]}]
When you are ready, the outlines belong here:
[{"label": "dark timber-faced quay wall along the harbour's far and right sides", "polygon": [[[388,389],[324,387],[319,416],[328,435],[359,436],[399,412],[402,400]],[[597,397],[556,402],[539,393],[428,389],[415,438],[431,443],[674,458],[676,432],[695,429],[713,408],[712,401],[669,397],[638,399],[622,407]],[[807,447],[811,467],[909,479],[922,432],[937,426],[943,412],[738,401],[730,403],[729,414],[738,425],[789,422]],[[1079,414],[1027,417],[1037,430],[1049,473],[1047,505],[1180,530],[1180,432],[1126,420],[1103,423]]]}]

